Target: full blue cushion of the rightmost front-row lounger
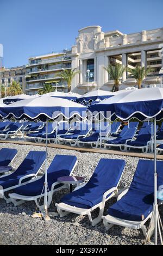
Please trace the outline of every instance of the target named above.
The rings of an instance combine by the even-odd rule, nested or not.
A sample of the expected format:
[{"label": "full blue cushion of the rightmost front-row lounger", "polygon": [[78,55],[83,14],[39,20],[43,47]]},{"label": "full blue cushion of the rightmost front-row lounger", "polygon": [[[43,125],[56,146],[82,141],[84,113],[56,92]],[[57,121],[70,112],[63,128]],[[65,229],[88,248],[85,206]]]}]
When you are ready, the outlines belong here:
[{"label": "full blue cushion of the rightmost front-row lounger", "polygon": [[[157,161],[158,187],[163,184],[163,162]],[[123,220],[143,221],[152,212],[154,202],[154,161],[139,160],[129,191],[108,214]]]}]

